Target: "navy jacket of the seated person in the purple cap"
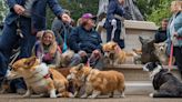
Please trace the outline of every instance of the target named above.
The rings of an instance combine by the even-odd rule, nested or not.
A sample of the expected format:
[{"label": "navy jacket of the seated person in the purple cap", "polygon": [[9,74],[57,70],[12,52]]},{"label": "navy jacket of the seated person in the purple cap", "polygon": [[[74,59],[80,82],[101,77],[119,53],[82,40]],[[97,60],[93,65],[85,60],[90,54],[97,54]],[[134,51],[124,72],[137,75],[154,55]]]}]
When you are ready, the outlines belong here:
[{"label": "navy jacket of the seated person in the purple cap", "polygon": [[69,41],[69,47],[74,52],[83,50],[87,53],[92,53],[95,49],[102,51],[101,37],[93,29],[88,31],[83,27],[77,27],[70,33]]}]

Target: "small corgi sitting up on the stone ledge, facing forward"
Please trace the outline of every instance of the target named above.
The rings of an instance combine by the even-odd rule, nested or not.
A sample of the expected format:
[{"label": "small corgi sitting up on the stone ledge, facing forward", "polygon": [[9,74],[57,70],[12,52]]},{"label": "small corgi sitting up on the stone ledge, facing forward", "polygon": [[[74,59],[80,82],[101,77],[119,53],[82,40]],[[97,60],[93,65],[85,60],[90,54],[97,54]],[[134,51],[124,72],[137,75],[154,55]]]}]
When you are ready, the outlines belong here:
[{"label": "small corgi sitting up on the stone ledge, facing forward", "polygon": [[109,60],[108,62],[111,65],[122,64],[125,62],[127,57],[133,57],[132,53],[127,53],[120,49],[118,43],[113,41],[103,44],[102,50],[104,52],[104,59]]}]

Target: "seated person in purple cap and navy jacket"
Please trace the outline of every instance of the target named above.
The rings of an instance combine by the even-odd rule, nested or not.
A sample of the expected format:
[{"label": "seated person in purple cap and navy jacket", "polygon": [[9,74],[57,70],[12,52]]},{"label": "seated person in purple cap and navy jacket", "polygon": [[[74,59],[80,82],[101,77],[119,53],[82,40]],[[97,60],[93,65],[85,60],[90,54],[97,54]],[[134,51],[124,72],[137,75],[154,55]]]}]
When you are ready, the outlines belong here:
[{"label": "seated person in purple cap and navy jacket", "polygon": [[99,62],[102,57],[102,40],[100,34],[94,30],[95,16],[84,13],[81,17],[81,24],[72,30],[69,38],[69,47],[79,53],[82,63],[100,69]]}]

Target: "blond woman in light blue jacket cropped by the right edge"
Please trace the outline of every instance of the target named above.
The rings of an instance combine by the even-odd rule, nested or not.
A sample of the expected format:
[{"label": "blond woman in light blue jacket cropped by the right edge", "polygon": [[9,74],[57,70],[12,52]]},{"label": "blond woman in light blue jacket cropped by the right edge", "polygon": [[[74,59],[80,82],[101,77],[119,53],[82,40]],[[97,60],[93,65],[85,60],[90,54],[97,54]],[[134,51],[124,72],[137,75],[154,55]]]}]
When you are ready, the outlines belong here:
[{"label": "blond woman in light blue jacket cropped by the right edge", "polygon": [[[171,2],[172,17],[168,24],[168,43],[173,45],[173,54],[182,76],[182,1]],[[171,50],[169,50],[171,51]]]}]

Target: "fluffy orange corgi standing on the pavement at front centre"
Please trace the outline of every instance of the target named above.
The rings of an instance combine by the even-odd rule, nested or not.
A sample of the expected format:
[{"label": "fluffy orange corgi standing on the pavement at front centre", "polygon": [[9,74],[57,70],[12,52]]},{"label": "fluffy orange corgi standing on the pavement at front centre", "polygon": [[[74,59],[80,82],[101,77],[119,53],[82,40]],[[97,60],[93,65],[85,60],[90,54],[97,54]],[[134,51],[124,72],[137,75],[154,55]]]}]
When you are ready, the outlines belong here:
[{"label": "fluffy orange corgi standing on the pavement at front centre", "polygon": [[124,96],[124,75],[118,71],[99,71],[84,64],[79,64],[70,70],[70,79],[77,79],[85,86],[84,94],[81,98],[97,98],[100,94],[110,93],[113,96],[114,91],[119,91]]}]

